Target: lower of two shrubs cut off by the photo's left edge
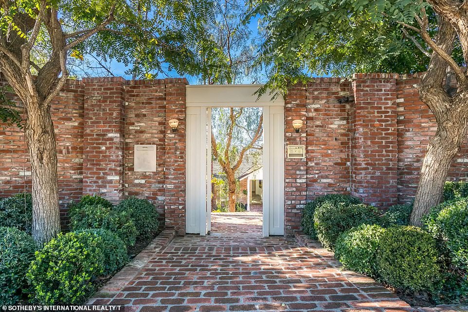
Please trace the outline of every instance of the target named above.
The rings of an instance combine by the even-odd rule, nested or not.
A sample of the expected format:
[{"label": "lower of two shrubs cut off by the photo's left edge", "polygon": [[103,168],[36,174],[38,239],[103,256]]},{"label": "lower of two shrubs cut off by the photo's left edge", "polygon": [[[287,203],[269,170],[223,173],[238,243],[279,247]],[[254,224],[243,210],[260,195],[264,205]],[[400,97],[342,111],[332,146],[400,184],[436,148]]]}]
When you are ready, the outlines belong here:
[{"label": "lower of two shrubs cut off by the photo's left edge", "polygon": [[0,227],[0,305],[14,305],[24,293],[25,275],[36,250],[36,242],[26,232]]}]

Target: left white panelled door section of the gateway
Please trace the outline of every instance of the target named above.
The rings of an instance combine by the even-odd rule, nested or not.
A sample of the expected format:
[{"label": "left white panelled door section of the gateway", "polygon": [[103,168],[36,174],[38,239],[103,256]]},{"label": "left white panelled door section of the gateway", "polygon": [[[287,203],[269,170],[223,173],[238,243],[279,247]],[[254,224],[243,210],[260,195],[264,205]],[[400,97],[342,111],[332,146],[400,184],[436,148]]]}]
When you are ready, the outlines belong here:
[{"label": "left white panelled door section of the gateway", "polygon": [[[187,107],[185,231],[201,235],[206,235],[210,226],[207,225],[207,209],[211,198],[207,200],[208,183],[204,183],[207,180],[211,181],[211,178],[207,179],[207,173],[211,175],[211,158],[207,157],[207,125],[211,126],[211,120],[209,123],[207,121],[206,107]],[[211,142],[211,139],[209,141]]]}]

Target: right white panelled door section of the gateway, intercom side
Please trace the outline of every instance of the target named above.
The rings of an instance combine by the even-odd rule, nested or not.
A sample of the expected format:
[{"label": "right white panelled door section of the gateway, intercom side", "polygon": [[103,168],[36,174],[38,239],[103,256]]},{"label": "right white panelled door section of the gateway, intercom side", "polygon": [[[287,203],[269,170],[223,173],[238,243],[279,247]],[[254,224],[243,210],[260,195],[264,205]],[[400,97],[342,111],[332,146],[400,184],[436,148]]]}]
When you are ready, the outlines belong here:
[{"label": "right white panelled door section of the gateway, intercom side", "polygon": [[263,235],[284,235],[284,107],[265,106]]}]

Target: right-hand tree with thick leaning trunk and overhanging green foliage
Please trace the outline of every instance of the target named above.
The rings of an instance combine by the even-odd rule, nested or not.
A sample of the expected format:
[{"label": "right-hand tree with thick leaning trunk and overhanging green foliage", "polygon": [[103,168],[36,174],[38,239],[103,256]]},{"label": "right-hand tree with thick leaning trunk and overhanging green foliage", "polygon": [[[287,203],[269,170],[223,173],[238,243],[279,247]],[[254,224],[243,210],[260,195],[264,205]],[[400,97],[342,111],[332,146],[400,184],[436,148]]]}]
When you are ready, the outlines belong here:
[{"label": "right-hand tree with thick leaning trunk and overhanging green foliage", "polygon": [[[420,172],[411,223],[440,201],[468,128],[468,2],[462,0],[259,0],[267,87],[285,91],[310,73],[427,70],[418,91],[437,121]],[[456,85],[451,84],[455,80]]]}]

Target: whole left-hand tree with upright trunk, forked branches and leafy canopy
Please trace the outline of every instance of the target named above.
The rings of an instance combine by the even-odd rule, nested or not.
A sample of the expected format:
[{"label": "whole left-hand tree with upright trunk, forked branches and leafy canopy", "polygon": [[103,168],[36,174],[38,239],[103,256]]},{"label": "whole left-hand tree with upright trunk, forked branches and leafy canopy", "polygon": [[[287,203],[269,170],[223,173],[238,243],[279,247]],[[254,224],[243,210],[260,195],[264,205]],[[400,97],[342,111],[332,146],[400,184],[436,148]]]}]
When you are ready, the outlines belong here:
[{"label": "whole left-hand tree with upright trunk, forked branches and leafy canopy", "polygon": [[[69,77],[67,60],[92,53],[126,65],[144,60],[139,66],[148,73],[165,61],[181,73],[198,74],[198,54],[189,47],[194,39],[203,41],[198,29],[210,19],[211,7],[191,0],[0,2],[0,69],[25,106],[36,242],[46,243],[60,231],[50,107]],[[150,12],[148,18],[141,11]],[[37,47],[49,51],[40,53],[40,63]]]}]

